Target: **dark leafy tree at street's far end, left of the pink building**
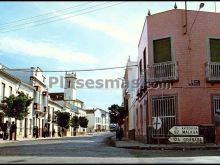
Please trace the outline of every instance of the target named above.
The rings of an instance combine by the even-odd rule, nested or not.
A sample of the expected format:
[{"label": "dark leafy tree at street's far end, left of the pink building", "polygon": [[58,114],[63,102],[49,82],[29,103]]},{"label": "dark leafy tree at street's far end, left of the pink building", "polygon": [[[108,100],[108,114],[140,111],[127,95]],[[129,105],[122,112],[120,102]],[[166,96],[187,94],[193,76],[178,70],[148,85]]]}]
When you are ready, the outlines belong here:
[{"label": "dark leafy tree at street's far end, left of the pink building", "polygon": [[111,123],[117,123],[119,125],[123,124],[123,118],[126,116],[127,112],[124,110],[124,107],[117,104],[111,105],[109,109],[109,116]]}]

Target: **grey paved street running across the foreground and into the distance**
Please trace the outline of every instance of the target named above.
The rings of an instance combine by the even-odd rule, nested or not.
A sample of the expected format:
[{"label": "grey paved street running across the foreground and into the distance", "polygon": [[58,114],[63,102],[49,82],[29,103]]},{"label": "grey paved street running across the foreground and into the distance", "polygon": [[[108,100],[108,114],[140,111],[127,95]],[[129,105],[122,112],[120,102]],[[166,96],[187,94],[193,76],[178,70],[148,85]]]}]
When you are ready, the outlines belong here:
[{"label": "grey paved street running across the foreground and into the distance", "polygon": [[219,150],[137,150],[111,147],[102,133],[0,144],[0,163],[219,163]]}]

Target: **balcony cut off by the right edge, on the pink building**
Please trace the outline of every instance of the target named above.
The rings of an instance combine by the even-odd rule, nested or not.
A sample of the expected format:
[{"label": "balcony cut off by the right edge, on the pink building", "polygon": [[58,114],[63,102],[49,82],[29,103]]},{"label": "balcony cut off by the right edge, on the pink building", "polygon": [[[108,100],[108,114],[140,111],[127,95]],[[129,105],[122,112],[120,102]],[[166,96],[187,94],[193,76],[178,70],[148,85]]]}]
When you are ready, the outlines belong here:
[{"label": "balcony cut off by the right edge, on the pink building", "polygon": [[208,81],[220,81],[220,62],[207,63],[206,77]]}]

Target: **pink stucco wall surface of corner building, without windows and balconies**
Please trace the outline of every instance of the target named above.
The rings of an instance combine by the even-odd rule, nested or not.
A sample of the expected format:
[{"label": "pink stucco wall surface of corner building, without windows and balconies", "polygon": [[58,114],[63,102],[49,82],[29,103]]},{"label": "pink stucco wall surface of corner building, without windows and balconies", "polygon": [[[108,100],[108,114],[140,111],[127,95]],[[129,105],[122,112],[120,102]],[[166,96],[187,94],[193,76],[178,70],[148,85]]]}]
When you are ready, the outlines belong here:
[{"label": "pink stucco wall surface of corner building, without windows and balconies", "polygon": [[[146,47],[147,63],[152,64],[153,40],[171,37],[172,60],[178,63],[179,79],[172,84],[170,90],[151,90],[148,97],[145,91],[138,100],[139,111],[144,100],[161,95],[163,91],[163,94],[176,94],[178,97],[177,124],[212,124],[211,95],[220,94],[220,83],[206,81],[206,63],[210,56],[208,39],[220,38],[220,13],[200,11],[189,35],[196,13],[197,11],[187,11],[188,35],[183,33],[184,10],[173,9],[146,17],[138,44],[138,63],[143,59]],[[200,80],[200,86],[189,85],[191,80]],[[151,111],[151,102],[148,102],[148,114],[143,116],[149,116],[147,125],[152,123]]]}]

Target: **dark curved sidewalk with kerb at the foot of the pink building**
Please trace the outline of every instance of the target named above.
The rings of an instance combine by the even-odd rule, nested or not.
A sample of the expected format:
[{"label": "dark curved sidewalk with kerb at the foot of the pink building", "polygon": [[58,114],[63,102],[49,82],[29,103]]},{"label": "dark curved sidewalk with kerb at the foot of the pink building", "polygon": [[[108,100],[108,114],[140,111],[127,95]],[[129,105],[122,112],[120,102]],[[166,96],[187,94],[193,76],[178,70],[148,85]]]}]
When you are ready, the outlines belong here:
[{"label": "dark curved sidewalk with kerb at the foot of the pink building", "polygon": [[115,147],[142,150],[220,150],[216,144],[146,144],[136,140],[122,139],[119,141],[112,136]]}]

